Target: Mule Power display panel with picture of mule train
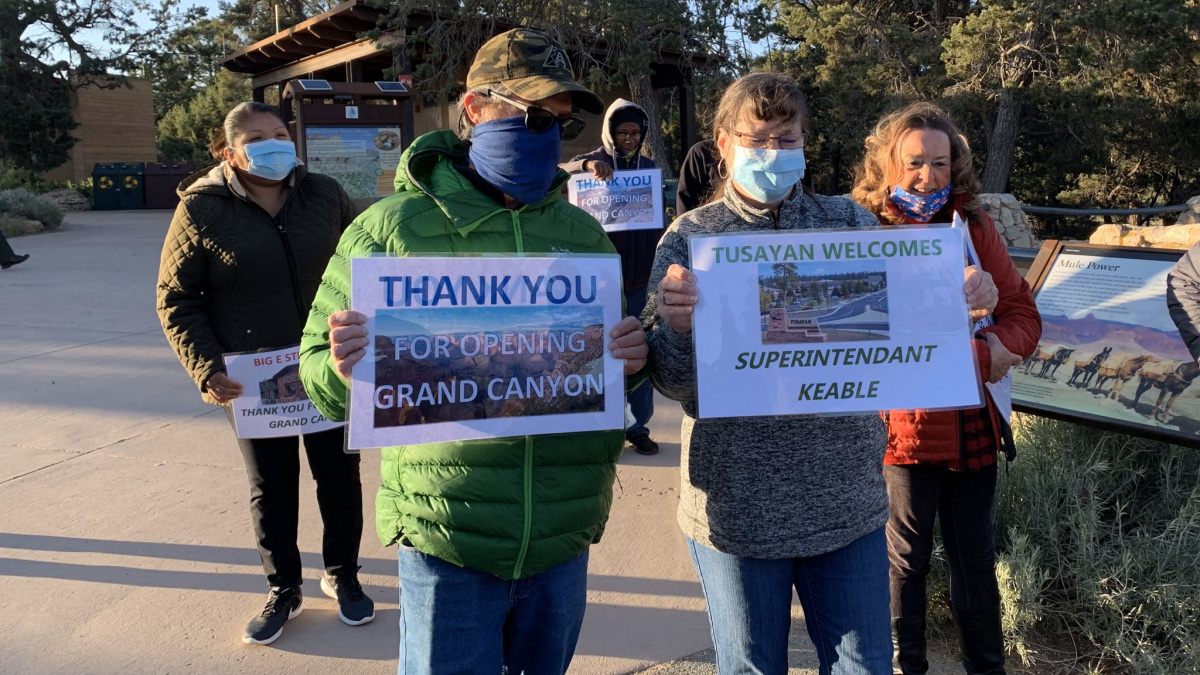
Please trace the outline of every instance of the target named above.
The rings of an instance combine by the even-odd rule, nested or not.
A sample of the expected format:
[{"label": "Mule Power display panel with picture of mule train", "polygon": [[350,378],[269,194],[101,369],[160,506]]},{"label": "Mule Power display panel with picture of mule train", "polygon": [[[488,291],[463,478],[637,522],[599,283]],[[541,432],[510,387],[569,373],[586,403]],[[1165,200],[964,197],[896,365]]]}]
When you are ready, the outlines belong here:
[{"label": "Mule Power display panel with picture of mule train", "polygon": [[1046,241],[1031,269],[1037,352],[1013,370],[1018,411],[1200,447],[1200,366],[1166,311],[1182,251]]}]

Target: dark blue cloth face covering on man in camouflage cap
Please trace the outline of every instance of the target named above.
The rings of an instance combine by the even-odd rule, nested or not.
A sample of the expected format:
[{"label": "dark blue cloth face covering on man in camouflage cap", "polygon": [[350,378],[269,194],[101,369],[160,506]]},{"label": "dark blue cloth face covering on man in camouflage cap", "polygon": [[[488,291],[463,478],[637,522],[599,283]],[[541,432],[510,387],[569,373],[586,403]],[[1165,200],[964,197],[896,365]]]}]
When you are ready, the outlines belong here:
[{"label": "dark blue cloth face covering on man in camouflage cap", "polygon": [[562,155],[557,123],[534,133],[524,118],[504,118],[476,124],[470,131],[472,166],[484,180],[523,204],[546,198]]}]

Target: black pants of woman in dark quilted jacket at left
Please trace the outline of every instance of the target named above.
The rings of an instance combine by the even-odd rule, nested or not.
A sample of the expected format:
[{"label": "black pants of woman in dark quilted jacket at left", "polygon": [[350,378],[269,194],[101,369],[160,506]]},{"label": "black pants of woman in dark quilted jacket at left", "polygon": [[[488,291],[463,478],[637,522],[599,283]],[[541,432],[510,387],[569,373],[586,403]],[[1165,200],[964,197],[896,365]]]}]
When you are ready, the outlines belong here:
[{"label": "black pants of woman in dark quilted jacket at left", "polygon": [[[227,408],[228,410],[228,408]],[[362,484],[359,455],[346,454],[344,429],[304,435],[308,468],[317,482],[317,506],[325,524],[320,552],[329,574],[355,574],[362,539]],[[250,518],[258,555],[271,586],[298,586],[300,549],[300,436],[239,438],[250,476]]]}]

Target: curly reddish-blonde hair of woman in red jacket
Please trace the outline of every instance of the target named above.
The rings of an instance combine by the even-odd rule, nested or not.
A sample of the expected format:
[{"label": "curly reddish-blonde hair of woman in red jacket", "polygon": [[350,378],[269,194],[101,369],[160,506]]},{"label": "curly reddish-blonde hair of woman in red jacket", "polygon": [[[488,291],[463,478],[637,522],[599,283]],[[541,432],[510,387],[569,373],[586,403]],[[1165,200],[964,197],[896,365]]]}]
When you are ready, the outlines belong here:
[{"label": "curly reddish-blonde hair of woman in red jacket", "polygon": [[888,113],[875,125],[875,132],[866,137],[863,163],[854,171],[854,190],[851,193],[854,201],[880,220],[892,223],[904,221],[902,215],[888,208],[892,203],[889,195],[900,175],[900,141],[910,131],[918,130],[941,131],[949,137],[950,184],[954,185],[952,193],[966,195],[964,215],[977,215],[983,185],[971,162],[967,137],[959,131],[946,110],[925,102]]}]

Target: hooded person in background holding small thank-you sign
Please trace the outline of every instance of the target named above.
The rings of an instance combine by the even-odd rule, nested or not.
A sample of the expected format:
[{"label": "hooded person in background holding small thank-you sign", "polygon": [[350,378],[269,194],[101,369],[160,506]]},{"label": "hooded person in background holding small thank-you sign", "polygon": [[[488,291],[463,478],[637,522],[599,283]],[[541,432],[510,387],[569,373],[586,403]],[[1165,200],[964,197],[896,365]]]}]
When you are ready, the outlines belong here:
[{"label": "hooded person in background holding small thank-you sign", "polygon": [[[612,178],[614,171],[637,171],[658,168],[654,160],[642,156],[642,141],[649,118],[640,106],[624,98],[617,98],[608,106],[604,115],[604,127],[600,130],[601,147],[571,161],[560,165],[566,173],[592,174],[599,180]],[[630,229],[610,232],[613,246],[620,253],[620,270],[625,286],[625,313],[641,316],[646,306],[646,285],[650,279],[650,265],[654,264],[654,252],[659,246],[661,229]],[[629,395],[636,422],[625,430],[625,438],[638,454],[653,455],[659,452],[659,444],[650,438],[647,424],[654,416],[654,389],[649,382],[643,383]]]}]

